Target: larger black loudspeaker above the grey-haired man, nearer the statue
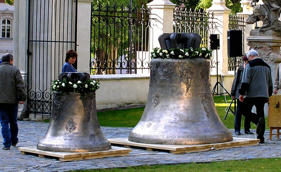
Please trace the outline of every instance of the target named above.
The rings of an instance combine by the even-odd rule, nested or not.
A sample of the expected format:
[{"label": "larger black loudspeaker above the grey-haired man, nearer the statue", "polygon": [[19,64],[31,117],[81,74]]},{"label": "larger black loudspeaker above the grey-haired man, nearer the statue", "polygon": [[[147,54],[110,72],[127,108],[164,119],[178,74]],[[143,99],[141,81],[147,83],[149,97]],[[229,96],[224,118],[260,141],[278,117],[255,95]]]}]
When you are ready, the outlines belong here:
[{"label": "larger black loudspeaker above the grey-haired man, nearer the statue", "polygon": [[227,55],[229,57],[243,56],[242,30],[227,31]]}]

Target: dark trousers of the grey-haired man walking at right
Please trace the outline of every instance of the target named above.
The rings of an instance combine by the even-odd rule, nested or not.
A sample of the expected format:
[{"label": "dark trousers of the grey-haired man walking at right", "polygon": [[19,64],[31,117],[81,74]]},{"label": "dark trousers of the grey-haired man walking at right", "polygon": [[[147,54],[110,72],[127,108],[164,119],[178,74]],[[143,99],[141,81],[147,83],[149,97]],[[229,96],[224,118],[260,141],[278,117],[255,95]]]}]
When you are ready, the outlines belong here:
[{"label": "dark trousers of the grey-haired man walking at right", "polygon": [[[268,101],[266,97],[246,97],[243,101],[243,115],[254,124],[258,124],[259,118],[264,118],[264,104]],[[253,106],[257,109],[257,114],[252,113]],[[264,133],[259,134],[259,139],[264,139]]]}]

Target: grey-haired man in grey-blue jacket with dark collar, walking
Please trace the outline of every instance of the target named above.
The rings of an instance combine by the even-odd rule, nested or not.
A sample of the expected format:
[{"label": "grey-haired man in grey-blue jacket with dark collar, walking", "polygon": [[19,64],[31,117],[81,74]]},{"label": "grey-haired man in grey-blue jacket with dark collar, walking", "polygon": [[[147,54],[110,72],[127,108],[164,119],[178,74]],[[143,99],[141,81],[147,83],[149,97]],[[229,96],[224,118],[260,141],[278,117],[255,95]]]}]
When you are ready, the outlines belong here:
[{"label": "grey-haired man in grey-blue jacket with dark collar, walking", "polygon": [[[246,64],[241,88],[239,89],[239,101],[243,102],[243,114],[249,115],[251,122],[257,125],[259,143],[264,143],[265,119],[264,104],[273,93],[271,69],[255,50],[249,50],[246,54],[249,63]],[[253,106],[257,108],[257,114],[251,113]]]}]

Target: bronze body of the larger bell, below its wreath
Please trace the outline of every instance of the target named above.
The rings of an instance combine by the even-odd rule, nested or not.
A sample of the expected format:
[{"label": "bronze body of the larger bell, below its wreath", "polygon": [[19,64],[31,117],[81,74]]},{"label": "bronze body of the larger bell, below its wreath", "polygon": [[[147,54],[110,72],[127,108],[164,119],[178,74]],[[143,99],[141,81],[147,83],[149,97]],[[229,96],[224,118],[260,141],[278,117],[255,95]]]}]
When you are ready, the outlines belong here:
[{"label": "bronze body of the larger bell, below its wreath", "polygon": [[129,141],[195,145],[232,141],[211,92],[208,59],[152,59],[146,107]]}]

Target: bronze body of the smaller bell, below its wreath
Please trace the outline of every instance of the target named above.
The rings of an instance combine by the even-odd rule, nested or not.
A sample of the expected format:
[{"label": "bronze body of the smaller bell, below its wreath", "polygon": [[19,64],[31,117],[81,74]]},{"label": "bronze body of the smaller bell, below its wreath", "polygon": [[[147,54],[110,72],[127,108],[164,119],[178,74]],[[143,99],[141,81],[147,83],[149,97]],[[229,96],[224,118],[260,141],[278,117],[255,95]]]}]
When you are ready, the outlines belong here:
[{"label": "bronze body of the smaller bell, below its wreath", "polygon": [[37,149],[57,152],[111,149],[97,119],[95,92],[83,98],[79,93],[53,92],[49,127]]}]

